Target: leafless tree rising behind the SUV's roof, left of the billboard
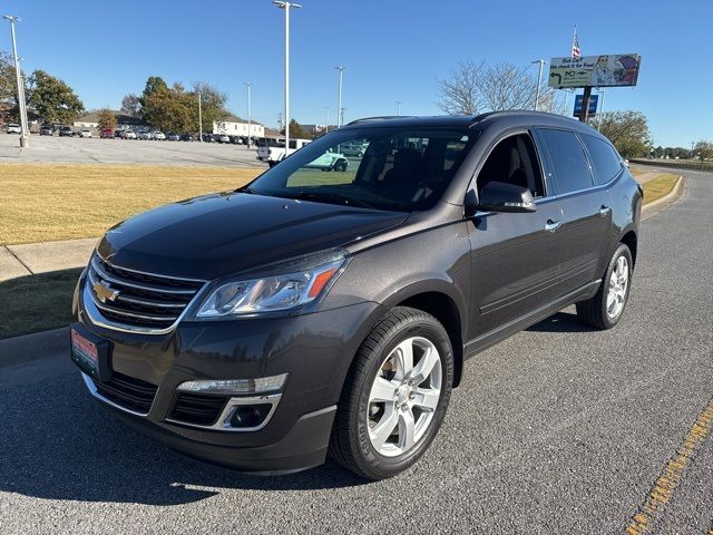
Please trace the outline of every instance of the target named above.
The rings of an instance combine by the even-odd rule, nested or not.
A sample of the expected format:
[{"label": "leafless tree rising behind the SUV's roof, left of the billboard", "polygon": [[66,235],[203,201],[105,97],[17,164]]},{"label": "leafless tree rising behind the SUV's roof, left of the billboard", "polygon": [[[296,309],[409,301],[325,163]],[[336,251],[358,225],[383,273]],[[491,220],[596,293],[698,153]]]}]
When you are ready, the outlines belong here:
[{"label": "leafless tree rising behind the SUV's roof, left of the billboard", "polygon": [[[438,84],[438,106],[450,115],[535,109],[537,74],[530,66],[461,61]],[[564,115],[565,108],[565,96],[545,81],[540,87],[538,109]]]}]

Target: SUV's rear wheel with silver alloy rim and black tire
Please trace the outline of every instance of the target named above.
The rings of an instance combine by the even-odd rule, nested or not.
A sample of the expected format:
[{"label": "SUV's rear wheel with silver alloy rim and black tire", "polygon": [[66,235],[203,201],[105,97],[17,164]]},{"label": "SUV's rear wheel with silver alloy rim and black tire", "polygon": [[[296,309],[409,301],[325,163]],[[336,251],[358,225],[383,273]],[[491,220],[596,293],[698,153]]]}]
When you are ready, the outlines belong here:
[{"label": "SUV's rear wheel with silver alloy rim and black tire", "polygon": [[632,252],[623,243],[612,255],[599,290],[594,298],[577,303],[577,317],[583,323],[596,329],[616,325],[628,301],[632,288]]}]

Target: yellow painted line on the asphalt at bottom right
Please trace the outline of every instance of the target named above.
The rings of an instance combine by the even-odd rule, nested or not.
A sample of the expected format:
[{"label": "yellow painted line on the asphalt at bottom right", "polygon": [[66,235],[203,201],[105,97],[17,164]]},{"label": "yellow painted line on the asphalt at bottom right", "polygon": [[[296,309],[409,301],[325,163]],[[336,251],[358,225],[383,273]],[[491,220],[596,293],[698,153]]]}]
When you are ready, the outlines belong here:
[{"label": "yellow painted line on the asphalt at bottom right", "polygon": [[[646,533],[654,518],[661,509],[671,502],[684,469],[691,463],[696,449],[705,440],[713,428],[713,398],[693,422],[691,429],[683,438],[683,444],[676,453],[666,463],[663,471],[654,483],[644,504],[638,508],[636,514],[629,519],[626,526],[627,535],[641,535]],[[711,528],[707,535],[713,535]]]}]

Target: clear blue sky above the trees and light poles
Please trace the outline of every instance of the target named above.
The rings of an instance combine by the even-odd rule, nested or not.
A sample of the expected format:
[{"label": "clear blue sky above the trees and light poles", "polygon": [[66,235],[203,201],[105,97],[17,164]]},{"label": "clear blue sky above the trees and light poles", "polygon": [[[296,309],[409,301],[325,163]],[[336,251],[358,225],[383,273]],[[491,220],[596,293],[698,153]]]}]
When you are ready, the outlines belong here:
[{"label": "clear blue sky above the trees and light poles", "polygon": [[[334,123],[343,65],[346,120],[440,114],[437,79],[460,60],[526,65],[567,56],[578,25],[583,55],[641,54],[638,86],[606,91],[607,110],[636,109],[656,145],[713,138],[710,0],[534,2],[522,0],[302,0],[292,11],[291,108],[304,124]],[[146,78],[206,80],[246,115],[275,125],[283,108],[284,13],[270,0],[4,0],[19,16],[25,69],[66,80],[88,109],[118,108]],[[0,49],[10,49],[2,21]],[[533,66],[535,69],[536,66]],[[570,99],[572,103],[572,99]]]}]

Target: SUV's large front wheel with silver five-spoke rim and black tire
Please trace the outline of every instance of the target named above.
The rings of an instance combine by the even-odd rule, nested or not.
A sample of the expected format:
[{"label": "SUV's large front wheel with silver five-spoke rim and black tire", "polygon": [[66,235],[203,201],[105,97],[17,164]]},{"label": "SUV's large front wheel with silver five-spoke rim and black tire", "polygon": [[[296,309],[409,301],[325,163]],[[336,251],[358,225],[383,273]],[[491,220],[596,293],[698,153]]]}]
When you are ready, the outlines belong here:
[{"label": "SUV's large front wheel with silver five-spoke rim and black tire", "polygon": [[330,456],[367,479],[411,467],[433,441],[453,383],[448,333],[397,307],[361,344],[340,399]]}]

